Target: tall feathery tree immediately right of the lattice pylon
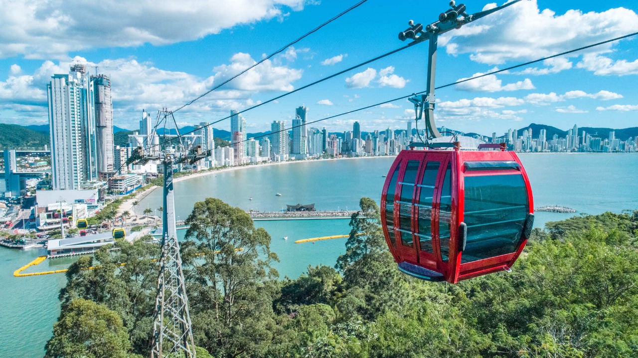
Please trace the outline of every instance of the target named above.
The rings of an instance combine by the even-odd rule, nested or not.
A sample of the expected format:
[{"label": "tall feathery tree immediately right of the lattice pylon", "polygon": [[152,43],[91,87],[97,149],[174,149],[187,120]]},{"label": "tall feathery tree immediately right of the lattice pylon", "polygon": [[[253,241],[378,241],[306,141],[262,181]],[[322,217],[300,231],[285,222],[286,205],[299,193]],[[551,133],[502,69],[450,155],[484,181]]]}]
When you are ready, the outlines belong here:
[{"label": "tall feathery tree immediately right of the lattice pylon", "polygon": [[[198,346],[215,357],[258,356],[273,338],[278,260],[271,236],[250,216],[216,198],[188,216],[183,262]],[[195,258],[197,254],[197,258]],[[203,255],[202,255],[203,254]]]}]

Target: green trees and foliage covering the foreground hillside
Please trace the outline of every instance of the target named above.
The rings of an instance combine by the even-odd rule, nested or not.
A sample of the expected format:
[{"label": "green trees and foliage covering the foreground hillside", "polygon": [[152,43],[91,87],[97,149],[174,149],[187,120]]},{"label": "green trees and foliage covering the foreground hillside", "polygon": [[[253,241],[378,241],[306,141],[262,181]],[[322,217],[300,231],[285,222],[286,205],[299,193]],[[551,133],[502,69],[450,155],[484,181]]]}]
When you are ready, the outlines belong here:
[{"label": "green trees and foliage covering the foreground hillside", "polygon": [[[638,211],[549,223],[512,273],[448,285],[397,271],[377,205],[360,206],[371,219],[352,216],[336,269],[278,280],[271,237],[248,214],[213,198],[195,204],[181,253],[198,356],[638,357]],[[148,355],[159,248],[115,245],[71,265],[49,356],[103,350],[97,333],[82,340],[71,329],[87,315],[113,352]]]}]

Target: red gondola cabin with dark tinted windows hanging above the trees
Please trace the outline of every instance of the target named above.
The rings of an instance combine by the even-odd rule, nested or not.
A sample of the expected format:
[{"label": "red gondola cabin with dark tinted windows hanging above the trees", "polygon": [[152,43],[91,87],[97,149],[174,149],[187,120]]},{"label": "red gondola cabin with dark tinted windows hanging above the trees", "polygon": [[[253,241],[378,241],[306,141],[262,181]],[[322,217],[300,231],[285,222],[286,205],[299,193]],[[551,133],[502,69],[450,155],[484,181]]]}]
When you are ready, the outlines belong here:
[{"label": "red gondola cabin with dark tinted windows hanging above the trees", "polygon": [[404,150],[381,197],[383,234],[399,270],[429,281],[508,271],[530,237],[530,181],[514,152]]}]

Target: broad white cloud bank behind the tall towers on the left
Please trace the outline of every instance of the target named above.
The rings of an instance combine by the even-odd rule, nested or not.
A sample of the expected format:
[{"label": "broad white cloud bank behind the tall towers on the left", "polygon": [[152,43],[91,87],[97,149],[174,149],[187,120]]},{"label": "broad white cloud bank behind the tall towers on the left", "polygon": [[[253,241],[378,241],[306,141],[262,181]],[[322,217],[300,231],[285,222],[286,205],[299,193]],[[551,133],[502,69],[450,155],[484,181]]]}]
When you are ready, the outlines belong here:
[{"label": "broad white cloud bank behind the tall towers on the left", "polygon": [[[184,105],[228,75],[237,73],[238,69],[243,70],[249,63],[254,63],[248,54],[237,54],[232,57],[230,64],[218,66],[214,75],[199,78],[186,72],[162,70],[152,63],[140,63],[135,59],[105,60],[100,63],[91,63],[82,57],[75,57],[73,60],[87,64],[91,73],[93,66],[98,66],[100,73],[110,76],[115,125],[124,128],[137,127],[138,112],[142,109],[155,110]],[[6,81],[0,82],[0,109],[21,112],[18,117],[4,116],[3,122],[46,121],[47,83],[54,73],[68,73],[71,63],[45,61],[33,74],[10,75]],[[199,118],[219,112],[226,114],[230,109],[255,105],[258,102],[251,99],[253,94],[272,90],[289,91],[293,88],[291,82],[300,76],[300,70],[275,66],[265,61],[261,66],[230,82],[227,87],[221,87],[193,105],[184,107],[182,118]],[[134,120],[131,121],[131,118]]]}]

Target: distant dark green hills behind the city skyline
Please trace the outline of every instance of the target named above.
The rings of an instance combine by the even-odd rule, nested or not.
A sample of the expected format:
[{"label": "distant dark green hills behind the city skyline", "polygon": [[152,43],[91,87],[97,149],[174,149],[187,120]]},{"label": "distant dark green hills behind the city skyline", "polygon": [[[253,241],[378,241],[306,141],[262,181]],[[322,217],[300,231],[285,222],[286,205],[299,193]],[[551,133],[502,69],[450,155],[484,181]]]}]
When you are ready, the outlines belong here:
[{"label": "distant dark green hills behind the city skyline", "polygon": [[[567,131],[560,130],[547,124],[536,123],[531,123],[529,126],[520,128],[518,130],[518,134],[521,135],[524,130],[527,130],[529,128],[531,128],[534,138],[538,137],[538,133],[540,132],[540,130],[547,131],[547,140],[550,140],[554,135],[558,135],[559,138],[564,138],[565,135],[567,135]],[[195,130],[195,127],[193,126],[184,126],[179,129],[180,133],[189,133],[193,130]],[[402,130],[394,131],[395,133],[400,133]],[[412,131],[414,133],[415,130]],[[620,140],[627,140],[629,137],[635,138],[638,136],[638,127],[623,128],[619,130],[614,130],[612,128],[581,127],[578,128],[578,135],[582,135],[582,131],[586,131],[586,133],[593,137],[600,138],[609,138],[609,132],[615,131],[616,138]],[[128,135],[133,133],[133,131],[113,126],[113,133],[114,144],[124,146],[128,142]],[[162,135],[163,128],[160,128],[160,130],[158,130],[158,133]],[[175,130],[171,130],[170,133],[175,134]],[[213,128],[213,133],[215,138],[226,141],[230,140],[230,131]],[[261,137],[263,135],[268,135],[270,133],[271,131],[247,133],[246,137],[255,138]],[[367,133],[368,132],[361,132],[362,137],[365,137]],[[343,132],[329,132],[329,135],[332,134],[337,135],[337,137],[339,138],[343,138]],[[470,137],[473,137],[474,135],[480,135],[477,133],[465,134],[469,135]],[[481,136],[485,138],[491,138],[491,135]],[[498,133],[498,137],[503,137],[503,133]],[[20,126],[19,124],[0,124],[0,149],[42,149],[44,145],[47,145],[47,147],[49,146],[48,124],[32,124],[30,126]]]}]

